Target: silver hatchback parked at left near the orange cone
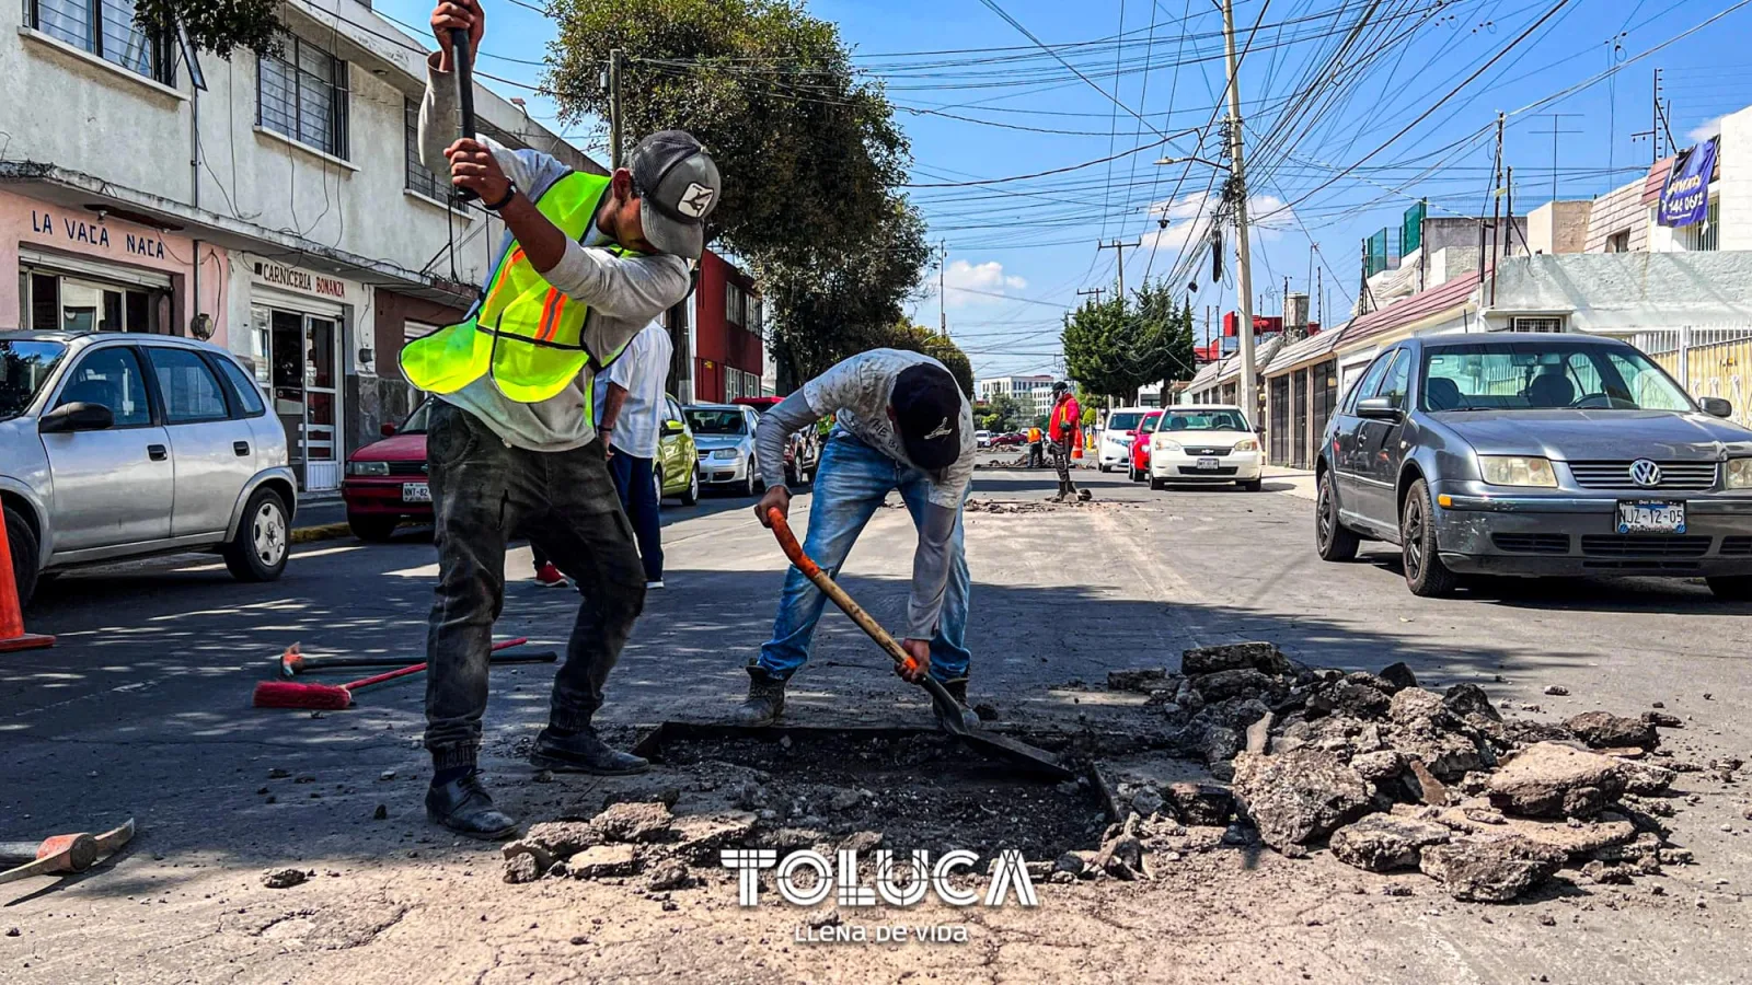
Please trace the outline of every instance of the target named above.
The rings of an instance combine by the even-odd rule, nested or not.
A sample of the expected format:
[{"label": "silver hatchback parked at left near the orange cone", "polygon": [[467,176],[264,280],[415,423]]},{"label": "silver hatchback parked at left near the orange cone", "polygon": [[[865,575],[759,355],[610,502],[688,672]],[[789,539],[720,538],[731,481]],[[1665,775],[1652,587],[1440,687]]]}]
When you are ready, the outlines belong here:
[{"label": "silver hatchback parked at left near the orange cone", "polygon": [[224,349],[0,331],[0,505],[21,601],[44,573],[180,550],[279,578],[296,489],[286,429]]}]

